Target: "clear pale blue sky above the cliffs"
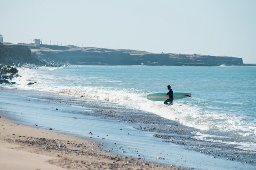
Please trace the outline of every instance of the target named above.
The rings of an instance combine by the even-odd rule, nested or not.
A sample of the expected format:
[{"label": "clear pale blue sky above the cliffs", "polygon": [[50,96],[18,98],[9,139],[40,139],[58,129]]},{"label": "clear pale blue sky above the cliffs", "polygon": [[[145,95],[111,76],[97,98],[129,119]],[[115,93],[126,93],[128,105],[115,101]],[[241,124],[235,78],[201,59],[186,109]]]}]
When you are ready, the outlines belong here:
[{"label": "clear pale blue sky above the cliffs", "polygon": [[256,63],[256,0],[0,0],[0,34]]}]

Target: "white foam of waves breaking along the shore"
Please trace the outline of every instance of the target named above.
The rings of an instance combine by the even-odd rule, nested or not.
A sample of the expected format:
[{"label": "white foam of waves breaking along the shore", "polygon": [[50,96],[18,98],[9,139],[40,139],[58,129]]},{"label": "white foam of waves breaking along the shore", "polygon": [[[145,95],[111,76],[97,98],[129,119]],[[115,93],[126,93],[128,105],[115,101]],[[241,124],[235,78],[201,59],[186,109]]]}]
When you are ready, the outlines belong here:
[{"label": "white foam of waves breaking along the shore", "polygon": [[[40,68],[43,70],[49,70],[49,68]],[[61,69],[61,68],[60,68]],[[56,92],[61,95],[91,98],[97,100],[103,100],[108,102],[115,102],[119,105],[139,109],[142,111],[148,111],[155,113],[163,118],[169,120],[175,120],[183,125],[191,126],[200,129],[205,132],[198,133],[202,139],[206,139],[207,131],[219,131],[223,133],[229,133],[234,136],[234,139],[242,139],[243,137],[251,137],[250,142],[240,142],[240,148],[247,147],[250,144],[252,148],[256,148],[256,127],[252,122],[246,122],[246,118],[243,116],[235,116],[228,113],[217,113],[205,111],[203,108],[195,105],[185,104],[181,100],[175,100],[173,106],[163,105],[163,102],[153,102],[146,99],[146,93],[139,89],[126,89],[126,88],[113,88],[113,87],[95,87],[95,86],[71,86],[68,84],[58,84],[56,77],[48,74],[47,77],[38,73],[38,70],[20,68],[20,74],[22,77],[14,79],[18,83],[16,85],[20,88],[35,89]],[[95,77],[91,77],[95,78]],[[72,78],[69,79],[71,81]],[[38,84],[27,85],[28,82],[38,82]],[[111,81],[111,80],[110,80]],[[204,99],[191,98],[189,100],[197,100],[203,102]],[[233,103],[234,104],[234,103]],[[243,105],[243,103],[236,103],[237,105]],[[225,110],[223,110],[225,111]],[[225,136],[218,135],[218,138],[222,138],[225,142]],[[213,139],[211,139],[213,140]],[[223,142],[218,140],[218,142]],[[248,147],[247,147],[248,148]],[[251,148],[251,150],[252,150]]]}]

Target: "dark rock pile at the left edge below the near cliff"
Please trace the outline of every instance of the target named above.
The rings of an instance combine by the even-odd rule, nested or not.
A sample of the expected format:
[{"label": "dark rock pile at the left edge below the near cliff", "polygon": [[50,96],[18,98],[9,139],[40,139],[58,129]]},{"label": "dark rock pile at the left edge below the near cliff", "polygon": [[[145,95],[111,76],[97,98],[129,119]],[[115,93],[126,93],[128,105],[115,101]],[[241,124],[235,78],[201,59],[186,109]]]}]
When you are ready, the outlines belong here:
[{"label": "dark rock pile at the left edge below the near cliff", "polygon": [[16,82],[11,82],[12,78],[18,77],[18,70],[10,65],[2,66],[0,65],[0,84],[16,84]]}]

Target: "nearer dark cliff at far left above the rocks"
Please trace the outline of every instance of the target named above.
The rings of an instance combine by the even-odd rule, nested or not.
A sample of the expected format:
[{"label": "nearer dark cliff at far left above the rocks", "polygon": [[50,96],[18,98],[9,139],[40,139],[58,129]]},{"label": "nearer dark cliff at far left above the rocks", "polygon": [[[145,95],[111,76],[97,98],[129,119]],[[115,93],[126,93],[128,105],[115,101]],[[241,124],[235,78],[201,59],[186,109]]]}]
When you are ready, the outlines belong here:
[{"label": "nearer dark cliff at far left above the rocks", "polygon": [[0,43],[0,64],[38,63],[27,46]]}]

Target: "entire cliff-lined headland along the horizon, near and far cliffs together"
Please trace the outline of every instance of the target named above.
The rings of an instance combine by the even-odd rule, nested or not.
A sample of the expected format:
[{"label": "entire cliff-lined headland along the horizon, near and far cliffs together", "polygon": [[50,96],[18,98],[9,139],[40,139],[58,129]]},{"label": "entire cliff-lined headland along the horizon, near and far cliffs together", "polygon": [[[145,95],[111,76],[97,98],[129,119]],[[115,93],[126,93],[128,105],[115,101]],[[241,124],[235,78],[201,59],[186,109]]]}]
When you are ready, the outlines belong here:
[{"label": "entire cliff-lined headland along the horizon, near and far cliffs together", "polygon": [[[0,63],[33,63],[36,65],[253,65],[242,58],[200,54],[151,53],[138,50],[44,44],[0,43]],[[256,65],[253,65],[256,66]]]}]

